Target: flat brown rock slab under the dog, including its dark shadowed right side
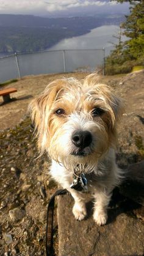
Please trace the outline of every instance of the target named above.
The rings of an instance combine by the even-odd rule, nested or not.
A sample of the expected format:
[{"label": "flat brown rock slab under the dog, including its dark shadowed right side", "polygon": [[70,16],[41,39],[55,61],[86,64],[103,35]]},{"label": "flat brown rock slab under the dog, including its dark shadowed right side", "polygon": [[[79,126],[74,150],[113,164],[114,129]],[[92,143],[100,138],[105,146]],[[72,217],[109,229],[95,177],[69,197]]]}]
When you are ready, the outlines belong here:
[{"label": "flat brown rock slab under the dog, including its dark shadowed right side", "polygon": [[79,222],[72,214],[73,198],[58,198],[59,256],[143,255],[143,166],[144,161],[131,165],[126,181],[113,191],[103,227],[93,220],[92,202],[87,203],[87,218]]}]

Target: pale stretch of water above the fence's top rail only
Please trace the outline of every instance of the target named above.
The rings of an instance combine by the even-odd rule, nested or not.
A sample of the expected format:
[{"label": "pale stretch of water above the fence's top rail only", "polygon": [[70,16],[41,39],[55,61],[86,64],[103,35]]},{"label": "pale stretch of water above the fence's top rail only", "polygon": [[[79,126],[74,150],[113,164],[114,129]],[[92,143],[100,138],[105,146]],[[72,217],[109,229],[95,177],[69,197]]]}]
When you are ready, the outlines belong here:
[{"label": "pale stretch of water above the fence's top rail only", "polygon": [[[114,44],[118,43],[120,27],[116,25],[106,25],[92,29],[88,34],[83,36],[63,39],[49,50],[69,50],[69,49],[102,49],[106,48],[106,56],[113,50]],[[122,36],[121,40],[126,40],[126,36]]]}]

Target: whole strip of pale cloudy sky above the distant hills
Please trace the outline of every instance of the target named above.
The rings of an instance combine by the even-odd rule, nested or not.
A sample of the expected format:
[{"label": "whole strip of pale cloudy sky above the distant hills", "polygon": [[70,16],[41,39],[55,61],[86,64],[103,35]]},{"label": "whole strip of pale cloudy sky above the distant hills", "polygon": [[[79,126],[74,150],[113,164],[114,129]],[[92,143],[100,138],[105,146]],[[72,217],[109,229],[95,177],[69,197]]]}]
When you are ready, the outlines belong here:
[{"label": "whole strip of pale cloudy sky above the distant hills", "polygon": [[[59,15],[60,13],[77,13],[101,10],[125,9],[124,5],[109,0],[0,0],[0,13]],[[128,9],[128,8],[127,8]]]}]

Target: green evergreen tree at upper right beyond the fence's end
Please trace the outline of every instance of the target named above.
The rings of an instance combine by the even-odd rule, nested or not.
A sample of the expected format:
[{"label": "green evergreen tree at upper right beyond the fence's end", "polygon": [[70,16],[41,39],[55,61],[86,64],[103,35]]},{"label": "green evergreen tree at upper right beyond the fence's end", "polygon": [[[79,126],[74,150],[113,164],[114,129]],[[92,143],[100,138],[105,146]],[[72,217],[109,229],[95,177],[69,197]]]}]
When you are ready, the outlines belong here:
[{"label": "green evergreen tree at upper right beyond the fence's end", "polygon": [[[144,1],[117,0],[117,2],[129,2],[130,14],[126,16],[126,21],[121,24],[123,34],[128,37],[126,42],[119,40],[118,45],[107,58],[107,65],[123,65],[124,62],[143,65],[144,62]],[[134,62],[135,61],[135,62]],[[131,66],[132,67],[132,66]],[[117,67],[118,68],[118,67]],[[122,67],[120,67],[120,70]],[[118,69],[117,69],[118,70]],[[126,69],[128,70],[128,69]]]}]

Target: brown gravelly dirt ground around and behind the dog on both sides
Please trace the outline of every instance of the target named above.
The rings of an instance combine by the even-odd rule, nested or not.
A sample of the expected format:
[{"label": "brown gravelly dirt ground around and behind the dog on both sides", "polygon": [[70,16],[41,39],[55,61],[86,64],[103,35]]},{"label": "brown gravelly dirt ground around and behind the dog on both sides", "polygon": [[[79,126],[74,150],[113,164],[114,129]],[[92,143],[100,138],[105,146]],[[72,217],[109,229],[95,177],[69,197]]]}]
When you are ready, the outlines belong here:
[{"label": "brown gravelly dirt ground around and behind the dog on both sides", "polygon": [[[0,255],[45,255],[46,205],[56,190],[48,175],[48,156],[37,159],[27,105],[49,82],[62,77],[84,78],[86,73],[24,77],[13,85],[15,101],[0,99]],[[144,71],[102,77],[123,98],[125,110],[118,126],[117,162],[121,168],[144,157]],[[57,224],[55,223],[57,255]]]}]

